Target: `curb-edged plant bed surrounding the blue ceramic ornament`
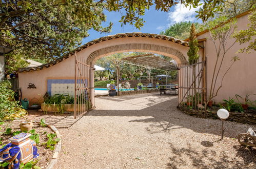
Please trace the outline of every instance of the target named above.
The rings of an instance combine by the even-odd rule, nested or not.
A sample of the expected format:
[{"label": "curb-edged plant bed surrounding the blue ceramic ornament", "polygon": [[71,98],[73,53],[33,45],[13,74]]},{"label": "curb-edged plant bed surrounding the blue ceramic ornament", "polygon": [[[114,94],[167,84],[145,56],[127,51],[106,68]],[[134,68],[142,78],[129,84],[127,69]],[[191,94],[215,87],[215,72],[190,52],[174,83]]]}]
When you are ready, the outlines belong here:
[{"label": "curb-edged plant bed surrounding the blue ceramic ornament", "polygon": [[[22,120],[14,120],[11,122],[5,122],[4,124],[0,125],[2,128],[2,134],[0,136],[1,146],[10,143],[8,139],[21,132],[19,129],[19,124],[21,121]],[[31,133],[31,137],[33,137],[30,137],[30,139],[33,139],[36,142],[37,153],[39,154],[39,156],[36,159],[31,160],[30,163],[41,168],[46,168],[51,162],[54,153],[53,151],[55,149],[55,144],[51,144],[49,140],[50,138],[55,140],[56,135],[44,123],[40,125],[40,123],[35,122],[33,123],[33,128],[29,133]]]}]

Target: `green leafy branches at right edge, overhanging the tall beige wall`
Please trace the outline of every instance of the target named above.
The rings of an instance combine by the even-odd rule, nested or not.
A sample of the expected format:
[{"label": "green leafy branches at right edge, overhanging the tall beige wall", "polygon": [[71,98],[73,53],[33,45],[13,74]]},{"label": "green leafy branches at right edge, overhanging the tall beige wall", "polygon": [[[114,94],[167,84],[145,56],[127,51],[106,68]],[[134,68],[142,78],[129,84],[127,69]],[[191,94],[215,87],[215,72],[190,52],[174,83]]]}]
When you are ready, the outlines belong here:
[{"label": "green leafy branches at right edge, overhanging the tall beige wall", "polygon": [[251,53],[251,51],[256,51],[256,9],[248,16],[248,20],[248,29],[234,32],[232,35],[232,37],[237,39],[240,45],[245,43],[249,44],[247,47],[240,49],[238,51],[239,53]]}]

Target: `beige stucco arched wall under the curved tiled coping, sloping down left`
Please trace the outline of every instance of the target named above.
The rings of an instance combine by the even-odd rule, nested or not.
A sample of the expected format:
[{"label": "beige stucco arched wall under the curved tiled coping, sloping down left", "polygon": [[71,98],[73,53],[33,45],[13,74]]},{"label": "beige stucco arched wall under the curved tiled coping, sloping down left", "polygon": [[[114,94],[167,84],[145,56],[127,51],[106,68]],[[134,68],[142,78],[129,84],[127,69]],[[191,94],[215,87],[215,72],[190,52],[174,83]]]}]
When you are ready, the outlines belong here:
[{"label": "beige stucco arched wall under the curved tiled coping, sloping down left", "polygon": [[[122,45],[122,44],[152,44],[152,45],[170,47],[182,52],[186,58],[187,58],[187,51],[189,49],[188,47],[173,43],[172,41],[163,40],[163,39],[146,38],[146,37],[123,37],[123,38],[103,41],[101,43],[92,45],[86,49],[83,49],[82,51],[77,52],[77,58],[80,58],[80,60],[85,62],[87,57],[93,51],[115,46],[115,45]],[[104,55],[99,55],[96,59],[99,59],[104,56],[108,56],[113,53],[131,52],[131,51],[163,54],[171,58],[174,58],[176,59],[176,61],[180,62],[180,60],[176,58],[176,56],[171,55],[169,53],[163,53],[157,50],[144,50],[144,49],[116,50],[115,52],[107,52]],[[200,53],[202,54],[202,49],[200,50]],[[22,98],[29,99],[31,103],[31,100],[33,98],[38,99],[40,97],[43,97],[47,92],[47,79],[74,79],[74,55],[67,58],[66,60],[61,61],[60,63],[54,66],[51,66],[43,70],[19,73],[19,87],[22,88]],[[34,85],[36,86],[36,89],[27,89],[29,83],[34,83]]]}]

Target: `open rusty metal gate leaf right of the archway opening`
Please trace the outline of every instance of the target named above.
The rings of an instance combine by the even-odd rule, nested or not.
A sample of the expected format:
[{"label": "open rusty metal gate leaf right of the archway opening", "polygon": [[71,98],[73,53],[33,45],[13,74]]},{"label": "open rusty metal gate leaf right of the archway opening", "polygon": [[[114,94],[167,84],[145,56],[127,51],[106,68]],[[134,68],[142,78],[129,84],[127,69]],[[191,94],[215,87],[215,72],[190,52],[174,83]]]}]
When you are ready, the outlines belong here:
[{"label": "open rusty metal gate leaf right of the archway opening", "polygon": [[206,61],[179,65],[179,104],[185,111],[204,112],[206,98]]}]

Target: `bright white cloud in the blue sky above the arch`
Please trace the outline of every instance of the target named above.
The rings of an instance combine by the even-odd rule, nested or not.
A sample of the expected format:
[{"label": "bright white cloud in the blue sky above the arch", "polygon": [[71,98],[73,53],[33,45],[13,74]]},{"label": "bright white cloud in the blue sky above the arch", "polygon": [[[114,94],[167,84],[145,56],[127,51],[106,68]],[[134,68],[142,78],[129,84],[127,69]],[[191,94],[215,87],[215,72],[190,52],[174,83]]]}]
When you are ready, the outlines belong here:
[{"label": "bright white cloud in the blue sky above the arch", "polygon": [[189,7],[185,7],[184,5],[175,5],[174,11],[168,13],[168,20],[170,21],[170,25],[185,21],[195,22],[195,11],[198,11],[200,7],[201,6],[198,6],[197,8],[191,7],[189,10]]}]

